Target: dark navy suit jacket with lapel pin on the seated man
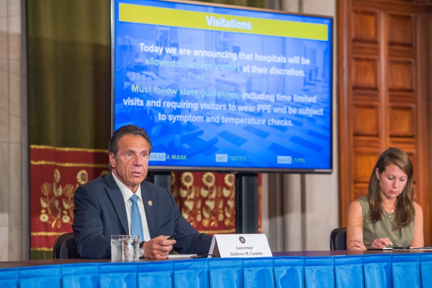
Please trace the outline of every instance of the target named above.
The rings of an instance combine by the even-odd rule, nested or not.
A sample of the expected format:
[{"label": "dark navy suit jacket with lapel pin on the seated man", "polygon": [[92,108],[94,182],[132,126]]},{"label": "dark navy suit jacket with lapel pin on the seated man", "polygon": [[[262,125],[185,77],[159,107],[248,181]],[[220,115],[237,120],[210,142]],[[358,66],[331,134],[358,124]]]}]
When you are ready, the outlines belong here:
[{"label": "dark navy suit jacket with lapel pin on the seated man", "polygon": [[[151,238],[170,236],[175,232],[175,251],[180,254],[209,253],[212,237],[198,233],[186,221],[170,192],[144,181],[141,196]],[[78,187],[74,203],[72,229],[81,258],[110,258],[111,235],[129,234],[123,195],[111,172]]]}]

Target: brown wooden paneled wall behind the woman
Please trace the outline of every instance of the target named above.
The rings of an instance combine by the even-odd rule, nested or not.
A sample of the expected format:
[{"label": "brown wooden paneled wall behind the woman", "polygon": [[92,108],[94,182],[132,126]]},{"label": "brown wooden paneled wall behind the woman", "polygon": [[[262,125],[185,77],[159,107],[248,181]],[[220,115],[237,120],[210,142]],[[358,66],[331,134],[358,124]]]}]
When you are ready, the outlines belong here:
[{"label": "brown wooden paneled wall behind the woman", "polygon": [[367,194],[378,156],[405,150],[432,244],[430,0],[338,0],[340,225]]}]

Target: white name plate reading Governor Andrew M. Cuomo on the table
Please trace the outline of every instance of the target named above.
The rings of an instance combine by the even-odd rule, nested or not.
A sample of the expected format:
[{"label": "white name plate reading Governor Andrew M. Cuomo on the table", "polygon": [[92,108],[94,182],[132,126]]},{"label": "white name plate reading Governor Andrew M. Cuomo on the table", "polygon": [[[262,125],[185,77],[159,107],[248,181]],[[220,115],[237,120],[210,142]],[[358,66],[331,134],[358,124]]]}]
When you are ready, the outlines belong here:
[{"label": "white name plate reading Governor Andrew M. Cuomo on the table", "polygon": [[220,258],[273,256],[265,234],[214,235],[209,254]]}]

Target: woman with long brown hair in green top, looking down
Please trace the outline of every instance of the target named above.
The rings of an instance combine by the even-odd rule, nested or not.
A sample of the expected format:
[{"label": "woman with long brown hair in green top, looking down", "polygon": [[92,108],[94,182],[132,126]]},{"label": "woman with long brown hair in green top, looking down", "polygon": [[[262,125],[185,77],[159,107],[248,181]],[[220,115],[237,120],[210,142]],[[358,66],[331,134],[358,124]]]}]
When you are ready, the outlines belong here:
[{"label": "woman with long brown hair in green top, looking down", "polygon": [[379,156],[368,195],[348,209],[348,250],[424,246],[423,211],[413,201],[412,170],[408,154],[400,149],[389,148]]}]

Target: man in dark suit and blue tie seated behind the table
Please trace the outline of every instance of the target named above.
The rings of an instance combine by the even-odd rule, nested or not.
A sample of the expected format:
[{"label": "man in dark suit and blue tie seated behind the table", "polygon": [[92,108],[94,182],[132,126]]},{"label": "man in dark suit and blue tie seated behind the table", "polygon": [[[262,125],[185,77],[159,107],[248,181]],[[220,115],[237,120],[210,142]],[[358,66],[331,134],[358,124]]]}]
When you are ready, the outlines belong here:
[{"label": "man in dark suit and blue tie seated behind the table", "polygon": [[[136,214],[131,216],[134,205],[142,219],[144,257],[166,258],[173,249],[180,254],[209,252],[212,237],[198,233],[186,221],[170,192],[144,181],[151,150],[144,129],[134,125],[119,128],[108,144],[111,172],[75,191],[72,228],[81,258],[110,258],[111,235],[131,234],[131,219],[137,219]],[[132,196],[137,198],[135,204]],[[174,233],[175,240],[169,239]]]}]

